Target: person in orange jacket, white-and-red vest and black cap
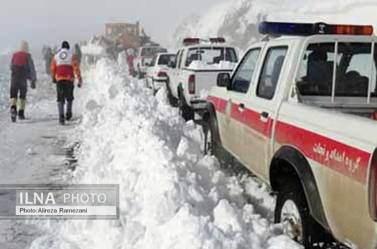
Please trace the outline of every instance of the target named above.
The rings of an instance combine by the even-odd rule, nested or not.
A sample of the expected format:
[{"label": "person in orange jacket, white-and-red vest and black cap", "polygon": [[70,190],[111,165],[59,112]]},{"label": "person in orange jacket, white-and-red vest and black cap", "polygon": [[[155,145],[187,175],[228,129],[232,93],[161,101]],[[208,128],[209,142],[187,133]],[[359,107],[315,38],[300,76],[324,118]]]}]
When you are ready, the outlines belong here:
[{"label": "person in orange jacket, white-and-red vest and black cap", "polygon": [[[64,120],[72,118],[72,103],[74,100],[74,81],[78,80],[78,88],[83,83],[81,78],[80,65],[76,56],[70,51],[69,43],[64,41],[60,51],[54,56],[51,62],[51,78],[56,83],[57,102],[59,111],[59,122],[64,124]],[[66,115],[64,116],[64,104],[67,100]]]}]

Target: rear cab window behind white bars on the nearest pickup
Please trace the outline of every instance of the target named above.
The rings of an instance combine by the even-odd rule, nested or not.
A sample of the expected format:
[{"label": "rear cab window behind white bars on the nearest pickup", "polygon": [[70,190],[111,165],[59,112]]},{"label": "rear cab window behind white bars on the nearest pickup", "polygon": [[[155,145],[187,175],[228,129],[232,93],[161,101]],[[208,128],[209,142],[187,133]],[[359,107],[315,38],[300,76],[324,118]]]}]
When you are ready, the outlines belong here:
[{"label": "rear cab window behind white bars on the nearest pickup", "polygon": [[371,96],[376,97],[377,51],[374,49],[372,60],[371,46],[371,43],[339,42],[334,70],[335,43],[310,44],[300,65],[297,82],[300,94],[331,96],[335,72],[334,96],[367,97],[370,81]]}]

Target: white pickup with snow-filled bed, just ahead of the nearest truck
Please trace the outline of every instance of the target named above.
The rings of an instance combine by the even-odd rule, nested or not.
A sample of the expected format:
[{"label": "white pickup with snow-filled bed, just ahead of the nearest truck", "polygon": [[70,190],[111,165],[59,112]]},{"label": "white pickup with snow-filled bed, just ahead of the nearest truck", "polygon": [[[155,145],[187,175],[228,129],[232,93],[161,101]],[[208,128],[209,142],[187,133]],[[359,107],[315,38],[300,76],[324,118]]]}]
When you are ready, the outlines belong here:
[{"label": "white pickup with snow-filled bed, just ahead of the nearest truck", "polygon": [[[205,91],[216,85],[219,72],[231,72],[238,62],[236,49],[227,46],[224,38],[185,38],[170,63],[167,92],[170,103],[177,103],[185,118],[194,118],[194,110],[205,107]],[[203,91],[204,90],[204,91]]]}]

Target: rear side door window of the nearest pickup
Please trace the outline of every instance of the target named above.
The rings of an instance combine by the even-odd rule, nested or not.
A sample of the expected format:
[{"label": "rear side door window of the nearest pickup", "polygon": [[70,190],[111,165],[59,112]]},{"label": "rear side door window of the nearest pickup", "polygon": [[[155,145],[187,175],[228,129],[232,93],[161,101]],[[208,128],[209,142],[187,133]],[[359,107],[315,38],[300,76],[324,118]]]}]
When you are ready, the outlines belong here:
[{"label": "rear side door window of the nearest pickup", "polygon": [[269,48],[265,57],[261,75],[259,75],[257,96],[271,100],[275,95],[277,81],[279,80],[287,46]]}]

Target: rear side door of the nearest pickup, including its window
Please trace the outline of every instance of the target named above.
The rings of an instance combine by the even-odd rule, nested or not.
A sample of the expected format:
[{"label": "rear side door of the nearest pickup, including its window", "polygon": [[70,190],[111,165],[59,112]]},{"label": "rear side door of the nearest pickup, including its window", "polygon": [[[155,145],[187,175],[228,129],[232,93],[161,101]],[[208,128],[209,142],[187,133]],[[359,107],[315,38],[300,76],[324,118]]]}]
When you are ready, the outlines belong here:
[{"label": "rear side door of the nearest pickup, including its window", "polygon": [[243,112],[242,161],[263,179],[269,178],[273,121],[279,106],[276,89],[288,52],[289,42],[276,41],[262,53],[258,73]]}]

